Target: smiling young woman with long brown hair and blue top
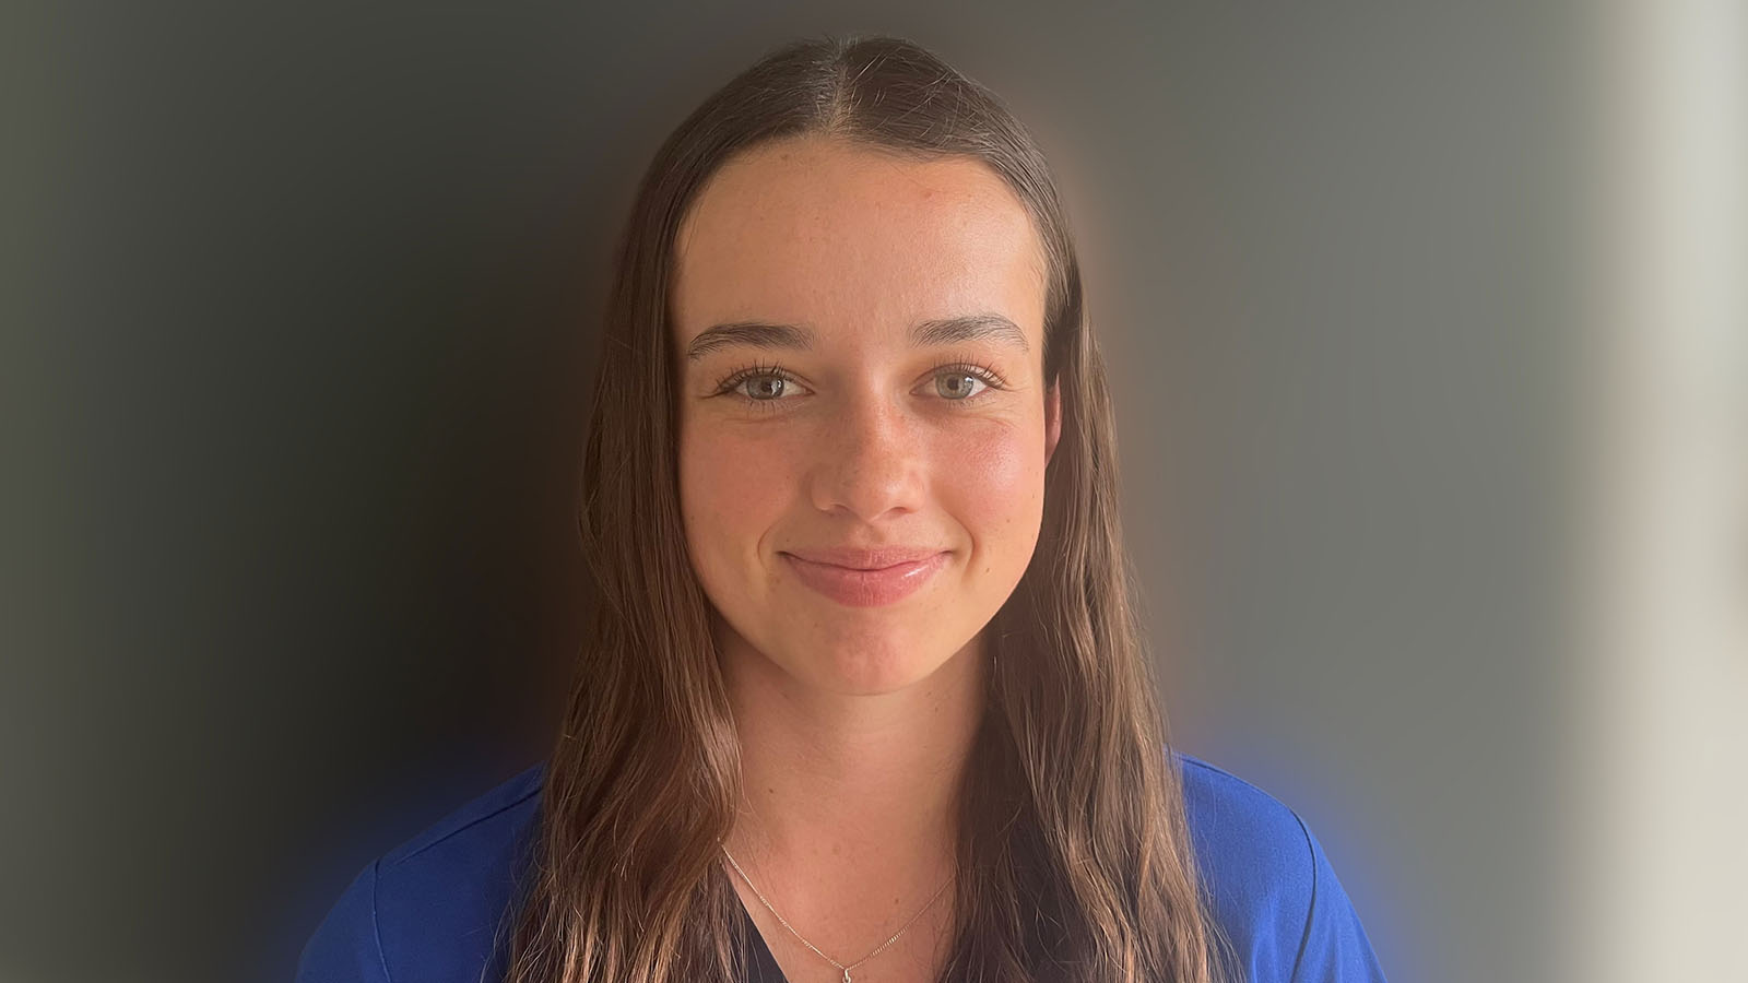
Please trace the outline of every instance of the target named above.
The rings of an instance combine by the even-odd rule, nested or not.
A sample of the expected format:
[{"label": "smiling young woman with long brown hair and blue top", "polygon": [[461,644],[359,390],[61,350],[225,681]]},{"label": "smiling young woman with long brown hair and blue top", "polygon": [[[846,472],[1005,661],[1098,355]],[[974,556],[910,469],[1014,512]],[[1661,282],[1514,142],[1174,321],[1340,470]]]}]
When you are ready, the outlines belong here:
[{"label": "smiling young woman with long brown hair and blue top", "polygon": [[371,864],[306,983],[1383,980],[1316,840],[1171,752],[1028,131],[897,38],[661,147],[552,756]]}]

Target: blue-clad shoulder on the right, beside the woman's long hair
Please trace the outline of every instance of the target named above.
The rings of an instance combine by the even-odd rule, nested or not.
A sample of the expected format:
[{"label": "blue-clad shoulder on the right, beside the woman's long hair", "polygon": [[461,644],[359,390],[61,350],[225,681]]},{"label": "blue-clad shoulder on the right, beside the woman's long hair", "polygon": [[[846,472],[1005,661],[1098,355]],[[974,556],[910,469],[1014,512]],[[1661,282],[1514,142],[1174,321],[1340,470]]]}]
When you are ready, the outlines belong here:
[{"label": "blue-clad shoulder on the right, beside the woman's long hair", "polygon": [[1360,917],[1321,843],[1257,785],[1173,752],[1196,862],[1250,983],[1381,983]]}]

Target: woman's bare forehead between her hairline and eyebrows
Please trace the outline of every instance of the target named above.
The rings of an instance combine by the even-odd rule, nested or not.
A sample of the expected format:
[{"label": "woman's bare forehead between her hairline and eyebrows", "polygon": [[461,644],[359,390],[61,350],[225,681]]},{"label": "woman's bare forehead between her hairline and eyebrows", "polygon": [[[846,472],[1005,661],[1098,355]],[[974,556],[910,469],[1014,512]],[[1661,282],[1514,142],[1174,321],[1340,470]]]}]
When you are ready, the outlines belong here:
[{"label": "woman's bare forehead between her hairline and eyebrows", "polygon": [[[912,161],[825,138],[718,170],[675,245],[680,341],[724,320],[900,336],[995,311],[1042,334],[1044,257],[1019,198],[982,161]],[[1035,348],[1038,350],[1038,348]]]}]

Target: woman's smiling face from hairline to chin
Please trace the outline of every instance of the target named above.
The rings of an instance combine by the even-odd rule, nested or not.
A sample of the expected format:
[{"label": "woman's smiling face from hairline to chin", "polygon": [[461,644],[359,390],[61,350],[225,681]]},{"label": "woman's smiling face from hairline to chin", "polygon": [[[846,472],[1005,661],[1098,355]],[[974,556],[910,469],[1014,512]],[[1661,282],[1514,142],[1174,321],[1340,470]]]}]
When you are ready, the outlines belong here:
[{"label": "woman's smiling face from hairline to chin", "polygon": [[830,693],[970,651],[1031,560],[1044,257],[972,159],[753,149],[676,243],[680,504],[722,645]]}]

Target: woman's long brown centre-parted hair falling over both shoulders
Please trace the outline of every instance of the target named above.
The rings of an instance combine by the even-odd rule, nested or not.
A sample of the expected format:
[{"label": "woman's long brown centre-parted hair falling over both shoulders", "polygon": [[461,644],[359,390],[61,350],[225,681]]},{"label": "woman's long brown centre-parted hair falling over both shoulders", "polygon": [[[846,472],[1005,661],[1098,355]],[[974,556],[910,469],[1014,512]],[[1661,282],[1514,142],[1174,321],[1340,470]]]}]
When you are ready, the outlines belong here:
[{"label": "woman's long brown centre-parted hair falling over both shoulders", "polygon": [[[745,924],[720,866],[739,745],[687,558],[669,287],[676,229],[734,154],[822,135],[984,161],[1049,261],[1044,378],[1063,434],[1044,525],[988,626],[988,712],[961,791],[944,980],[1220,978],[1182,778],[1140,651],[1117,511],[1115,430],[1051,170],[986,87],[912,42],[809,38],[697,107],[638,189],[607,301],[579,525],[600,593],[510,941],[510,983],[732,980]],[[654,411],[652,411],[654,409]]]}]

